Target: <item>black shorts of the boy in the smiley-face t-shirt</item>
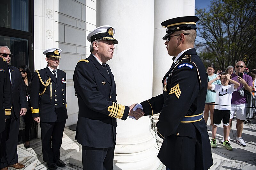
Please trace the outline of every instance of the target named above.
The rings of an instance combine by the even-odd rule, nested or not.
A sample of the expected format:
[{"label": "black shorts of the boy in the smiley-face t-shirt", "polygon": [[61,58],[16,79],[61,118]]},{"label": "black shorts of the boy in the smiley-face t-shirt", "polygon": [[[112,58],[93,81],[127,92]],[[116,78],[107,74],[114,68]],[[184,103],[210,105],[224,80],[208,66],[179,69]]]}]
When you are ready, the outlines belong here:
[{"label": "black shorts of the boy in the smiley-face t-shirt", "polygon": [[220,125],[221,120],[224,126],[229,125],[230,110],[218,110],[214,109],[213,112],[213,124],[215,126]]}]

